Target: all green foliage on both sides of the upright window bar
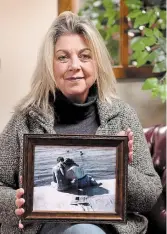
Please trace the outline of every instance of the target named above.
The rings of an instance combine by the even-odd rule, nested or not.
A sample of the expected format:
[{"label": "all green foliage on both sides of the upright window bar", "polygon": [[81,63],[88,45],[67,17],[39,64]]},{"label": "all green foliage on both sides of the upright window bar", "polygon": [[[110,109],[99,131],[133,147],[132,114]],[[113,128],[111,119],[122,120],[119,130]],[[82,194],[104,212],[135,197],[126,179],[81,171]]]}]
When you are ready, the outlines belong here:
[{"label": "all green foliage on both sides of the upright window bar", "polygon": [[[79,14],[89,17],[101,33],[112,55],[114,64],[119,64],[119,1],[87,0]],[[163,73],[160,78],[145,80],[142,89],[151,90],[153,97],[166,100],[166,9],[163,0],[125,0],[129,14],[127,16],[129,32],[133,38],[130,48],[133,53],[129,63],[141,67],[153,66],[153,73]],[[148,4],[151,2],[151,4]],[[163,2],[156,6],[157,2]],[[163,7],[162,7],[163,6]],[[129,33],[128,32],[128,33]],[[127,45],[128,46],[128,45]],[[158,76],[159,77],[159,76]]]}]

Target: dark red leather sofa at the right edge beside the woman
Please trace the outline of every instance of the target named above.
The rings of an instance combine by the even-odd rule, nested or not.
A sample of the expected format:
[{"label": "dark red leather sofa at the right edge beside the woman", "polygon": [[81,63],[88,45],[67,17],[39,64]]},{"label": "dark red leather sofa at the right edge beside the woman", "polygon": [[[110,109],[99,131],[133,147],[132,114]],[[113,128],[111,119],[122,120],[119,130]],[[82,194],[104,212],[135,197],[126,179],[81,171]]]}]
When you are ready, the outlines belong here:
[{"label": "dark red leather sofa at the right edge beside the woman", "polygon": [[149,220],[147,234],[166,233],[166,132],[167,126],[156,125],[143,129],[154,168],[159,174],[163,191],[152,210],[145,214]]}]

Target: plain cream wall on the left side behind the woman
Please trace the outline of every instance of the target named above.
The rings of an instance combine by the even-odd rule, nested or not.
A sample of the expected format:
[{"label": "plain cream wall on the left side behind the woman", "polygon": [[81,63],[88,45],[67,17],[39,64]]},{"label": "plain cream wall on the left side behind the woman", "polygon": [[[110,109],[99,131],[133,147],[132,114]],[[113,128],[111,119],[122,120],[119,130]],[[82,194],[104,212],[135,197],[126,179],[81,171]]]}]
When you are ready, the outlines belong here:
[{"label": "plain cream wall on the left side behind the woman", "polygon": [[29,90],[42,39],[57,0],[0,0],[0,132]]}]

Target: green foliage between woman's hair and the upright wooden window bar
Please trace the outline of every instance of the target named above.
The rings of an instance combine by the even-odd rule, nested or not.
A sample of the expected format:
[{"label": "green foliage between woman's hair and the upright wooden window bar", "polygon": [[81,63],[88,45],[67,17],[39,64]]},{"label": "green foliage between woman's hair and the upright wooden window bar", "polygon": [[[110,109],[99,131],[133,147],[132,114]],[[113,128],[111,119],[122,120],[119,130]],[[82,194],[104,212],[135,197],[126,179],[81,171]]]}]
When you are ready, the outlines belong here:
[{"label": "green foliage between woman's hair and the upright wooden window bar", "polygon": [[119,64],[119,5],[111,0],[87,0],[79,15],[92,20],[104,38],[114,64]]}]

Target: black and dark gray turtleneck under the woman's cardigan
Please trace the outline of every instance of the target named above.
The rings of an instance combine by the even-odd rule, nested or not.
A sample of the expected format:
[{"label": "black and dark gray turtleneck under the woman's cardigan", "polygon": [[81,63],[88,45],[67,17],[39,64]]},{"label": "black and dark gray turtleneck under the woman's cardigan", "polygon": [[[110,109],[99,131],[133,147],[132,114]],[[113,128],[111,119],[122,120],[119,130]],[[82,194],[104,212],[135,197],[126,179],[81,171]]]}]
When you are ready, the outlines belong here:
[{"label": "black and dark gray turtleneck under the woman's cardigan", "polygon": [[88,98],[83,104],[70,101],[57,90],[54,103],[56,133],[94,135],[99,126],[96,99],[95,86],[90,88]]}]

